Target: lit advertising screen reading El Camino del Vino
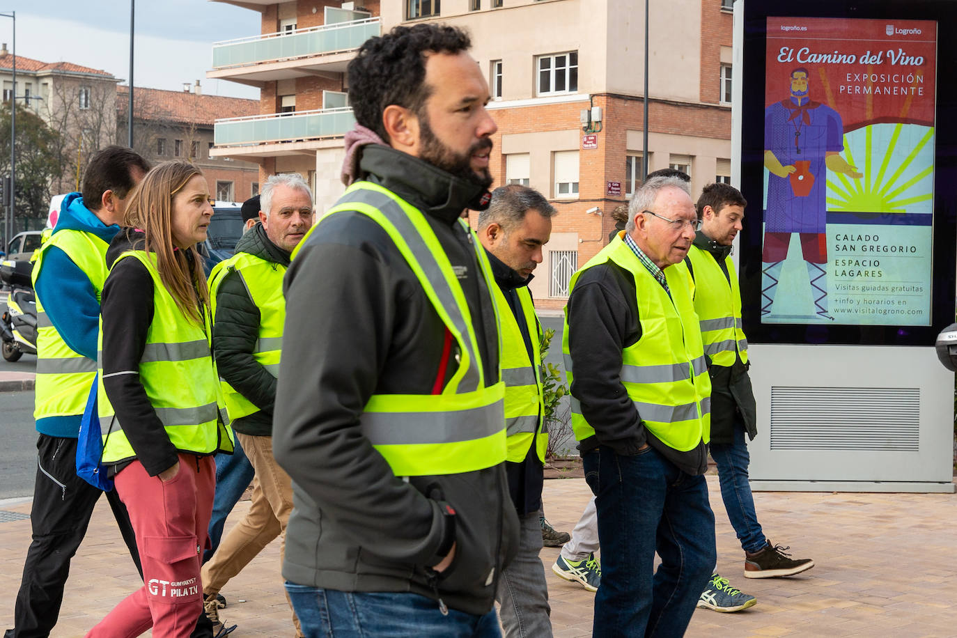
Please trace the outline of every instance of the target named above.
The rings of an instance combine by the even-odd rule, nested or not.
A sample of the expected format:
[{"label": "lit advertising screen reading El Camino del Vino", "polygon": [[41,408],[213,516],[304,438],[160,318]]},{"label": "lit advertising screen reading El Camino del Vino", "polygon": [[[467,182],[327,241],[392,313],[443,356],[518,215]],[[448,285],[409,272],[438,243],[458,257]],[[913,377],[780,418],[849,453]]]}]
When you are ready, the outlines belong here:
[{"label": "lit advertising screen reading El Camino del Vino", "polygon": [[767,18],[762,323],[931,325],[937,31]]}]

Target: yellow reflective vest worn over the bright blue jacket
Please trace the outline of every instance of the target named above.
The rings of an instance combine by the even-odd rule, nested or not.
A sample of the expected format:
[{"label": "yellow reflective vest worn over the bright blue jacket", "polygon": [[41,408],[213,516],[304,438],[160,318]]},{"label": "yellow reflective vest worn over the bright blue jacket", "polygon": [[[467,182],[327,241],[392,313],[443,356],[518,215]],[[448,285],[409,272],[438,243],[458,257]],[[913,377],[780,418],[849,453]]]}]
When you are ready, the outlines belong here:
[{"label": "yellow reflective vest worn over the bright blue jacket", "polygon": [[[106,281],[106,249],[109,244],[92,232],[62,230],[56,232],[37,249],[33,263],[33,289],[43,268],[44,255],[56,247],[63,251],[79,270],[90,279],[100,300]],[[36,380],[34,419],[54,416],[76,416],[83,413],[90,385],[97,373],[97,362],[72,350],[56,332],[53,322],[36,296]]]}]

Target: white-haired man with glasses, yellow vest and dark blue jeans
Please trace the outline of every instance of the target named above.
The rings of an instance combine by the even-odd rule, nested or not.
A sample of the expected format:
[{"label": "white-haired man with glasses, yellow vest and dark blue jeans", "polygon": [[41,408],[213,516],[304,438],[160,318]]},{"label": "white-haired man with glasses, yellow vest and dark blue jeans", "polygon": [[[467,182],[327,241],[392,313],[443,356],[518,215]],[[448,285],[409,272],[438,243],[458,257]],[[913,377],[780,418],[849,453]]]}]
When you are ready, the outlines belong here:
[{"label": "white-haired man with glasses, yellow vest and dark blue jeans", "polygon": [[700,222],[686,188],[648,180],[625,232],[571,278],[562,346],[596,496],[599,637],[682,635],[716,560],[703,476],[711,384],[682,263]]}]

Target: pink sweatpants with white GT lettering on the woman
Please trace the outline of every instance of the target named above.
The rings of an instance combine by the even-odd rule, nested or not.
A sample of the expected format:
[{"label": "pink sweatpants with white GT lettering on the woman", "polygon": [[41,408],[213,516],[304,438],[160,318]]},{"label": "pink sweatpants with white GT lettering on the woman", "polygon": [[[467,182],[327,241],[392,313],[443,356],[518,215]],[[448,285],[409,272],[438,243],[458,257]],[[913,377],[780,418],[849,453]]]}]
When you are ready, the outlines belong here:
[{"label": "pink sweatpants with white GT lettering on the woman", "polygon": [[133,461],[116,475],[136,532],[145,584],[122,600],[87,638],[133,638],[153,627],[157,638],[189,638],[203,611],[199,576],[212,513],[216,466],[211,456],[180,454],[167,482]]}]

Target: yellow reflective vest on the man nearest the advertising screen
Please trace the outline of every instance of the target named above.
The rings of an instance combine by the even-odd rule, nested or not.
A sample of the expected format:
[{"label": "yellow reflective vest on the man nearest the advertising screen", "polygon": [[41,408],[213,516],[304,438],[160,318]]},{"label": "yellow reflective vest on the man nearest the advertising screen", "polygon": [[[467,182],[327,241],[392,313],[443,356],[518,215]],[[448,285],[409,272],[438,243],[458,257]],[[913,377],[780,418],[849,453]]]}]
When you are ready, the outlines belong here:
[{"label": "yellow reflective vest on the man nearest the advertising screen", "polygon": [[701,341],[711,363],[731,367],[738,354],[747,363],[747,340],[741,320],[741,290],[731,257],[724,258],[730,276],[724,276],[713,255],[692,245],[688,251],[695,277],[695,310],[701,322]]}]

